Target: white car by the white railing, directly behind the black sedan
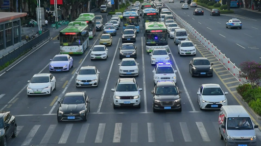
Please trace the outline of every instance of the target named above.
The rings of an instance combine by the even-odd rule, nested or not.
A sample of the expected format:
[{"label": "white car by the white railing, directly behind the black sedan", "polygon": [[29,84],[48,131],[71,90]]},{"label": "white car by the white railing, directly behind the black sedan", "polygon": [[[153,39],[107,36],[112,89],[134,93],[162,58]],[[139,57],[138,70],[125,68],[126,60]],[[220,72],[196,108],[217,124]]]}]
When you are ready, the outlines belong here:
[{"label": "white car by the white railing, directly behind the black sedan", "polygon": [[196,45],[190,40],[183,40],[178,45],[178,54],[181,55],[196,55]]}]

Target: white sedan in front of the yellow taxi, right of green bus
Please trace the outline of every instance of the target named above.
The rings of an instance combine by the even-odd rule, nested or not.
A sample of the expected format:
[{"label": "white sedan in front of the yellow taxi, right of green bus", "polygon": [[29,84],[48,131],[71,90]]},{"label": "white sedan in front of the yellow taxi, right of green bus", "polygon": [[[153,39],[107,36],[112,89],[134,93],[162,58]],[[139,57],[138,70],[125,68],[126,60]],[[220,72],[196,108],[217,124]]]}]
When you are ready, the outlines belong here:
[{"label": "white sedan in front of the yellow taxi, right of green bus", "polygon": [[95,45],[91,49],[91,60],[93,59],[105,59],[108,57],[108,49],[105,45]]}]

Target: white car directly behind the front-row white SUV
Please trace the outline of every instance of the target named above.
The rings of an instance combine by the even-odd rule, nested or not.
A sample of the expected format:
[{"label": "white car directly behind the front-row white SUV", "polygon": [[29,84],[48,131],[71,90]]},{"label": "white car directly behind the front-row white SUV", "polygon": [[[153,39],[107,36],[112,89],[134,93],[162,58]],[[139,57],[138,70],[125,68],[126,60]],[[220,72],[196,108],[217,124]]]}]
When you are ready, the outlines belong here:
[{"label": "white car directly behind the front-row white SUV", "polygon": [[119,63],[119,76],[139,76],[138,65],[134,58],[123,58]]}]

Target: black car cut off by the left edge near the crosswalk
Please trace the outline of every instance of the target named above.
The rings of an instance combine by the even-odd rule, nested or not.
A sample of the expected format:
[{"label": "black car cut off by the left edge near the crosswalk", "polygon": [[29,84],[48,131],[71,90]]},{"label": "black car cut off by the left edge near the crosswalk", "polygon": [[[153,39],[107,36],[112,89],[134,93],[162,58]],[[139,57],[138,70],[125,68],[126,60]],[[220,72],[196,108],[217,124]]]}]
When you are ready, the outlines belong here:
[{"label": "black car cut off by the left edge near the crosswalk", "polygon": [[0,146],[6,146],[7,140],[16,137],[16,120],[10,111],[0,111]]}]

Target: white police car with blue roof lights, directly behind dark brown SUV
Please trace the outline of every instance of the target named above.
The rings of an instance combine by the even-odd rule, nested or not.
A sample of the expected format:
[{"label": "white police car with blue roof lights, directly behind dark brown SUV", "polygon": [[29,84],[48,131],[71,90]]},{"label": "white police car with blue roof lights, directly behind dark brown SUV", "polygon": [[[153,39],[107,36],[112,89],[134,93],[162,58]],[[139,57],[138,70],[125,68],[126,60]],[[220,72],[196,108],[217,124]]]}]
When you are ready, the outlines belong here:
[{"label": "white police car with blue roof lights, directly behind dark brown SUV", "polygon": [[175,84],[177,82],[177,71],[173,69],[170,62],[157,63],[152,73],[154,85],[156,85],[158,81],[174,81]]}]

